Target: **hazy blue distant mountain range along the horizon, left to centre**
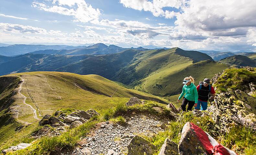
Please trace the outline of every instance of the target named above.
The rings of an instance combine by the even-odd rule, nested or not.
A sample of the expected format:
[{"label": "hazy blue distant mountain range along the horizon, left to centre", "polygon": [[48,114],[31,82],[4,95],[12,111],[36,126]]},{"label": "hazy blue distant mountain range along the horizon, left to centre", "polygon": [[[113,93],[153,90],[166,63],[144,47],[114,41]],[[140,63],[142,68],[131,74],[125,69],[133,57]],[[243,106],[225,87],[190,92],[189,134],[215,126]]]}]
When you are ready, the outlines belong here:
[{"label": "hazy blue distant mountain range along the horizon, left to centre", "polygon": [[[1,45],[0,45],[1,46]],[[105,45],[102,43],[90,45],[90,46],[67,46],[67,45],[24,45],[15,44],[9,46],[0,47],[0,55],[2,56],[17,56],[26,53],[34,54],[61,54],[61,55],[83,55],[83,54],[112,54],[124,51],[126,49],[137,49],[141,51],[149,50],[143,47],[131,47],[122,48],[115,45]],[[164,48],[154,48],[154,49],[168,49]]]}]

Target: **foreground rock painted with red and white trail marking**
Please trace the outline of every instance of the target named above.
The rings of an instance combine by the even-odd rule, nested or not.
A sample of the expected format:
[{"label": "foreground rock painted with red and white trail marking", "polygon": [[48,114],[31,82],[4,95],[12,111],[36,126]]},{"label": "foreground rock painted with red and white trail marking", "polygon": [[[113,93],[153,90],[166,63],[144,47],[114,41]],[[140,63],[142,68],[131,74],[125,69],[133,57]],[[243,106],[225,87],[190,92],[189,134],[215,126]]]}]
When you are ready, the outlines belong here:
[{"label": "foreground rock painted with red and white trail marking", "polygon": [[187,155],[236,155],[232,150],[218,144],[207,132],[187,122],[181,132],[179,154]]}]

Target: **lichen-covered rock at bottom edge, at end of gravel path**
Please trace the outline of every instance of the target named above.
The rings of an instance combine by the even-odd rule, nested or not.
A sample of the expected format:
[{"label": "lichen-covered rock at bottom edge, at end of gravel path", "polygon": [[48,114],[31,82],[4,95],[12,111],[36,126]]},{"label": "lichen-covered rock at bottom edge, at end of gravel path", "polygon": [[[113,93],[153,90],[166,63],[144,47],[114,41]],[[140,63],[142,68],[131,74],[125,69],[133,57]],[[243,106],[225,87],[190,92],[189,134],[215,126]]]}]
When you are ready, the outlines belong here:
[{"label": "lichen-covered rock at bottom edge, at end of gravel path", "polygon": [[128,155],[144,155],[144,153],[150,155],[153,154],[153,151],[157,149],[155,145],[137,135],[134,136],[127,148]]}]

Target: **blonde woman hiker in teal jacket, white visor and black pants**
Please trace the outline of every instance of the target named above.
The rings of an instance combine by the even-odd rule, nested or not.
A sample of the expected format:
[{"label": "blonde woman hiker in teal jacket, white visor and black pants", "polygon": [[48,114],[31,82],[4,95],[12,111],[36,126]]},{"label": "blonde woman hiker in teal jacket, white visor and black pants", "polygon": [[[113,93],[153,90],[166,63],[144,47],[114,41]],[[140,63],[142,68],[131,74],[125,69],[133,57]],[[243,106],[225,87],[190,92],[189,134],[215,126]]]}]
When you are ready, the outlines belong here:
[{"label": "blonde woman hiker in teal jacket, white visor and black pants", "polygon": [[192,110],[193,106],[195,103],[198,101],[198,94],[197,94],[197,89],[196,86],[194,85],[194,78],[193,77],[186,77],[183,80],[183,88],[182,88],[182,93],[180,94],[180,97],[178,98],[178,102],[180,102],[180,98],[185,94],[181,108],[183,111],[186,111],[186,106],[188,104],[187,110]]}]

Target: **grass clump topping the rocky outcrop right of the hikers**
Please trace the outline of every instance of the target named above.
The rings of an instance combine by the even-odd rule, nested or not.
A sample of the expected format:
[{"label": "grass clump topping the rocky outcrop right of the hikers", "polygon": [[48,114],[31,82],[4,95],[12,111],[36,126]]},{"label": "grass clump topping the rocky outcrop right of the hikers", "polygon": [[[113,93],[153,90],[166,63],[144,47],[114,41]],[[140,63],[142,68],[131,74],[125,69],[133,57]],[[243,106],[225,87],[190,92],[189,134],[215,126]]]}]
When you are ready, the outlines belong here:
[{"label": "grass clump topping the rocky outcrop right of the hikers", "polygon": [[[250,89],[249,83],[256,81],[256,69],[254,71],[248,71],[247,69],[230,68],[226,69],[225,72],[217,79],[214,87],[217,87],[217,93],[227,92],[228,88],[233,90],[245,90]],[[247,86],[247,88],[245,87]]]}]

